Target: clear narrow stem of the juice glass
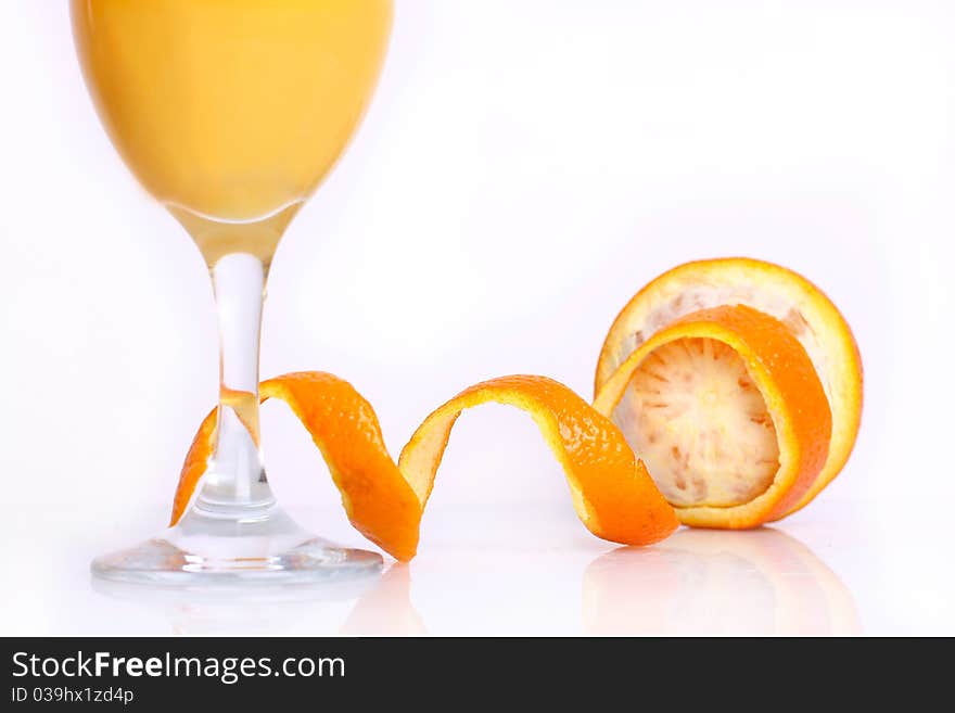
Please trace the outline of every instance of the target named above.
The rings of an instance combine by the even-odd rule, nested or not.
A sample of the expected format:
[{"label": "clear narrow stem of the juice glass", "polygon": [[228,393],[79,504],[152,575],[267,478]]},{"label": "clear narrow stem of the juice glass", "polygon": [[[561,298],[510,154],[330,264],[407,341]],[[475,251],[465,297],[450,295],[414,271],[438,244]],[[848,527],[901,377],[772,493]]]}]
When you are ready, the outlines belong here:
[{"label": "clear narrow stem of the juice glass", "polygon": [[258,425],[258,347],[267,269],[255,255],[224,255],[212,268],[219,322],[216,445],[195,507],[224,518],[265,515],[275,505]]}]

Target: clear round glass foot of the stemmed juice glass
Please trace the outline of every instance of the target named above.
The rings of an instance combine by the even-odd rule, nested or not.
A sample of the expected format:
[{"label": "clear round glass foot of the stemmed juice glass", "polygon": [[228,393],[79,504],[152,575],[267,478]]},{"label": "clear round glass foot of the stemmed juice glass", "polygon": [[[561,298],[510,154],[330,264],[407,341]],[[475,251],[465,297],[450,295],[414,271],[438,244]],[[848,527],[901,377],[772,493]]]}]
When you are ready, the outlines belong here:
[{"label": "clear round glass foot of the stemmed juice glass", "polygon": [[380,555],[316,537],[271,507],[239,519],[194,508],[161,536],[98,557],[91,570],[113,582],[219,588],[340,582],[381,566]]}]

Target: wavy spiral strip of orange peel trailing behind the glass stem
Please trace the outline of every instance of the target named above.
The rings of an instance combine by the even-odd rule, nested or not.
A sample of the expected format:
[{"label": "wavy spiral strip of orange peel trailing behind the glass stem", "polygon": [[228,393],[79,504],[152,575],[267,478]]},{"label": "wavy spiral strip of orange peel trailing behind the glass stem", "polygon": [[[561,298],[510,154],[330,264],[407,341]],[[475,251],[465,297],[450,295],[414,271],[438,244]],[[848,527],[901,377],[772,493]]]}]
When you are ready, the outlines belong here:
[{"label": "wavy spiral strip of orange peel trailing behind the glass stem", "polygon": [[[384,445],[371,405],[346,381],[304,371],[270,379],[260,397],[285,402],[321,450],[352,524],[399,560],[418,548],[421,515],[451,428],[466,408],[496,402],[537,423],[566,475],[574,509],[603,539],[649,545],[678,526],[673,508],[623,434],[566,386],[545,377],[502,377],[471,386],[429,416],[397,464]],[[173,507],[179,521],[206,470],[215,442],[209,413],[189,449]]]}]

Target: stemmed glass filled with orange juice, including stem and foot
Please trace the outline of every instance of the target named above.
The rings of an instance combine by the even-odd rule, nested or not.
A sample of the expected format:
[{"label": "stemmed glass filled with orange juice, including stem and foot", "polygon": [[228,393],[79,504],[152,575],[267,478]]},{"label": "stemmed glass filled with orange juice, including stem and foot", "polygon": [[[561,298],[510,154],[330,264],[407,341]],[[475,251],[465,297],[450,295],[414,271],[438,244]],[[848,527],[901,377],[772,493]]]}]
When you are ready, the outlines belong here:
[{"label": "stemmed glass filled with orange juice, including stem and foot", "polygon": [[189,510],[93,574],[170,585],[378,572],[278,506],[258,435],[269,264],[371,98],[391,0],[71,0],[84,76],[126,164],[205,258],[219,327],[214,455]]}]

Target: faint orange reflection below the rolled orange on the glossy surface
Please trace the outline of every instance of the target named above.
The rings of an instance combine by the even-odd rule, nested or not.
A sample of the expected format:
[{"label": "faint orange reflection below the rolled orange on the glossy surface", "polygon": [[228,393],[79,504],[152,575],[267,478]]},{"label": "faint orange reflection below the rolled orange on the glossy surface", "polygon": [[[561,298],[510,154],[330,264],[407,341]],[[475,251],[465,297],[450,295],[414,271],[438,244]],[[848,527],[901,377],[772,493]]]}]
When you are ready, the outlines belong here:
[{"label": "faint orange reflection below the rolled orange on the glossy surface", "polygon": [[[753,609],[753,602],[763,602]],[[620,547],[584,572],[588,636],[858,635],[852,593],[780,530],[684,529],[660,547]]]}]

